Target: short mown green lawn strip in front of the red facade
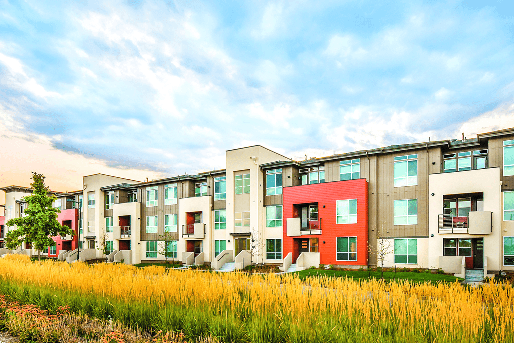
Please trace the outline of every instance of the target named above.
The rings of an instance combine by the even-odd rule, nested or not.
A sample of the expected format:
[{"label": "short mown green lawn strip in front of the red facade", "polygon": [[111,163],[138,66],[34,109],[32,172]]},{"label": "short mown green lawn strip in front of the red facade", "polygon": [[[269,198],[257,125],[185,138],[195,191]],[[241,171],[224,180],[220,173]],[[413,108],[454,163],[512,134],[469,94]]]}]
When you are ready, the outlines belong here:
[{"label": "short mown green lawn strip in front of the red facade", "polygon": [[[359,270],[323,270],[323,269],[304,269],[300,272],[295,272],[302,278],[308,276],[319,276],[325,275],[328,277],[348,277],[352,279],[380,279],[381,272],[360,272]],[[393,280],[394,272],[384,272],[385,280]],[[395,280],[408,280],[415,282],[430,281],[432,283],[437,282],[455,282],[462,281],[463,279],[457,278],[451,275],[444,274],[432,274],[432,273],[412,273],[412,272],[396,272]]]}]

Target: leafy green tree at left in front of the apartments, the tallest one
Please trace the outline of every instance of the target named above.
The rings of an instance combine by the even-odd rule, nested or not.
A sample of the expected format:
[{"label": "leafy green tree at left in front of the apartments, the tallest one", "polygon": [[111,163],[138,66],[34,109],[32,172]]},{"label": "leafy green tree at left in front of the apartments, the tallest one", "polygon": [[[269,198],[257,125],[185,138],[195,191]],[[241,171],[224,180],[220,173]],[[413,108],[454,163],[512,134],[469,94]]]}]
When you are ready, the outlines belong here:
[{"label": "leafy green tree at left in front of the apartments, the tallest one", "polygon": [[61,210],[52,207],[57,196],[48,195],[45,176],[33,172],[31,179],[32,195],[23,197],[27,203],[25,215],[10,219],[6,223],[6,226],[16,226],[15,229],[7,232],[6,239],[10,241],[11,249],[19,246],[23,241],[31,242],[32,246],[38,249],[38,260],[40,260],[41,250],[54,243],[52,236],[65,236],[72,234],[73,231],[59,224],[57,214],[61,213]]}]

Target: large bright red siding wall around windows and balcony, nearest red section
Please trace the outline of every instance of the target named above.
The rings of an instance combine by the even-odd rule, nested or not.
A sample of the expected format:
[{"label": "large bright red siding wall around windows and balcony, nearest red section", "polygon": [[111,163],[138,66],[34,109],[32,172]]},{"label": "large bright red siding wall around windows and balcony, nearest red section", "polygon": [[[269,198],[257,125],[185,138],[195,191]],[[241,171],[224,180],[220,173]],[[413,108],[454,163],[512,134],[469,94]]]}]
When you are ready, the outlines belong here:
[{"label": "large bright red siding wall around windows and balcony, nearest red section", "polygon": [[[368,181],[364,178],[328,182],[323,184],[284,187],[283,189],[284,257],[293,252],[296,255],[298,243],[294,239],[318,237],[321,264],[368,264]],[[336,224],[336,202],[357,199],[357,224]],[[287,218],[294,218],[293,205],[318,203],[318,218],[321,218],[321,234],[287,236]],[[325,208],[323,208],[325,206]],[[357,261],[337,261],[337,237],[357,236]],[[325,241],[325,243],[323,243]]]}]

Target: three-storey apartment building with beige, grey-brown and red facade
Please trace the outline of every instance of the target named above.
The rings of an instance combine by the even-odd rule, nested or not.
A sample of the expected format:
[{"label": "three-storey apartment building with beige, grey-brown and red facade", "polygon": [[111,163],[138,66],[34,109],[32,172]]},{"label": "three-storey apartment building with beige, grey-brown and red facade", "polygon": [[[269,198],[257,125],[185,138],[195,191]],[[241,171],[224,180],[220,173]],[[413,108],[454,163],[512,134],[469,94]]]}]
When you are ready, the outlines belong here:
[{"label": "three-storey apartment building with beige, grey-brown and red facade", "polygon": [[[170,259],[215,269],[359,268],[386,244],[386,266],[514,269],[514,128],[303,161],[252,146],[228,150],[223,170],[83,183],[63,195],[83,201],[80,239],[57,243],[81,259],[102,257],[105,236],[107,259],[125,263],[163,260],[167,242]],[[19,211],[7,198],[6,218]]]}]

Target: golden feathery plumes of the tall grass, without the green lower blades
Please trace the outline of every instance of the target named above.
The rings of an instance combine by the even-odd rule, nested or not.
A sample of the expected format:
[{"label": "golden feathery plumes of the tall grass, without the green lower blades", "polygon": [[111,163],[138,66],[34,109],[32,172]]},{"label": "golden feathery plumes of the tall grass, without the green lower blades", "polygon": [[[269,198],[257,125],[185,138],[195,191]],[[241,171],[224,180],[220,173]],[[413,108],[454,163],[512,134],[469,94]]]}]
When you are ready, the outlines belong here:
[{"label": "golden feathery plumes of the tall grass, without the green lower blades", "polygon": [[[216,309],[232,313],[287,318],[308,322],[313,316],[350,318],[356,328],[389,323],[396,330],[424,336],[473,340],[490,326],[497,341],[512,336],[514,293],[506,284],[490,282],[465,288],[458,283],[437,284],[310,278],[296,275],[249,275],[169,270],[159,266],[136,268],[124,264],[51,260],[31,261],[9,255],[0,259],[0,277],[25,284],[93,293],[119,300],[151,301],[156,306]],[[221,310],[220,310],[221,311]],[[348,321],[346,321],[348,322]]]}]

